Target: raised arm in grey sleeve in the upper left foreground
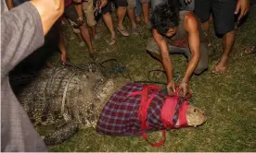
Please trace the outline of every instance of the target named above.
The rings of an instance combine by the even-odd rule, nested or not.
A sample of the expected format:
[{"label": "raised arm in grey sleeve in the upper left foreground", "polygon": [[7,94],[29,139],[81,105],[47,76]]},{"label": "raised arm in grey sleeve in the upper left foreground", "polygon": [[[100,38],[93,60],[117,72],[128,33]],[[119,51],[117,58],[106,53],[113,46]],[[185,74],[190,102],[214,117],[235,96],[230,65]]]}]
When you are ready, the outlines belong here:
[{"label": "raised arm in grey sleeve in the upper left foreground", "polygon": [[44,44],[63,8],[63,0],[32,0],[1,14],[2,77]]}]

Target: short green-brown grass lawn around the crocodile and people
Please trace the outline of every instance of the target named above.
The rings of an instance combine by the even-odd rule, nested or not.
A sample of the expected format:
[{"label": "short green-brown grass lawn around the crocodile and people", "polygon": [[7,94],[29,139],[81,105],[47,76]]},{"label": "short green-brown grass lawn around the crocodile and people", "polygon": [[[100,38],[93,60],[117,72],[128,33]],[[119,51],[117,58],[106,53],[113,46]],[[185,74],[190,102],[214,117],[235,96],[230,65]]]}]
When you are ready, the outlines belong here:
[{"label": "short green-brown grass lawn around the crocodile and people", "polygon": [[[125,25],[128,27],[127,20]],[[256,54],[244,53],[247,47],[255,45],[255,22],[254,7],[247,21],[237,30],[236,45],[224,75],[211,73],[222,53],[222,40],[211,36],[217,50],[211,57],[209,70],[200,76],[192,76],[190,81],[195,105],[208,114],[206,124],[169,131],[167,141],[161,147],[150,147],[142,137],[99,135],[94,129],[80,130],[63,144],[49,147],[50,151],[256,151]],[[101,38],[94,42],[94,46],[101,60],[119,59],[129,68],[134,80],[145,80],[148,70],[160,67],[160,63],[145,51],[151,33],[144,26],[141,26],[143,33],[139,36],[124,38],[119,34],[114,47],[106,42],[110,36],[105,26],[100,22],[97,28]],[[70,34],[68,28],[68,38]],[[90,61],[86,47],[78,47],[78,43],[77,39],[69,41],[70,61],[76,64]],[[56,57],[58,54],[53,59]],[[171,58],[174,72],[184,74],[186,58],[181,55]],[[151,141],[160,137],[160,132],[149,135]]]}]

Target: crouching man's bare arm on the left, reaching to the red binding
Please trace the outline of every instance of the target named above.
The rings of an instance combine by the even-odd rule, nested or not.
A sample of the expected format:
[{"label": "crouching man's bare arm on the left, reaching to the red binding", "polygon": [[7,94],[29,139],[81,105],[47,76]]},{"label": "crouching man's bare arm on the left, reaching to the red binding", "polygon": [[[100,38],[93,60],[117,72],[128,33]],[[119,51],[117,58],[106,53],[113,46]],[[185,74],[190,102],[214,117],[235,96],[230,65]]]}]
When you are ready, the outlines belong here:
[{"label": "crouching man's bare arm on the left, reaching to the red binding", "polygon": [[171,94],[172,93],[171,90],[173,89],[174,91],[175,87],[173,82],[173,65],[172,65],[172,61],[170,59],[170,54],[168,51],[168,44],[164,40],[164,38],[160,35],[157,29],[153,29],[153,37],[160,47],[161,62],[166,72],[167,82],[168,82],[167,90],[168,90],[168,93]]}]

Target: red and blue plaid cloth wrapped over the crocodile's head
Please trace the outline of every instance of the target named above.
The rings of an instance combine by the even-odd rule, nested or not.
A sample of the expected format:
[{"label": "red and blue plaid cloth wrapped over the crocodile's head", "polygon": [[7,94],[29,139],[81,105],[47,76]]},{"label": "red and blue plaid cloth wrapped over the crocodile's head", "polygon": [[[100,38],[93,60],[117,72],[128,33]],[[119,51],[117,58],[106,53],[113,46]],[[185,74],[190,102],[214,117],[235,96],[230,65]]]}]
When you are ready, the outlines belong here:
[{"label": "red and blue plaid cloth wrapped over the crocodile's head", "polygon": [[[141,91],[143,84],[129,83],[118,89],[101,112],[96,132],[105,135],[142,135],[141,122],[138,118],[138,108],[141,104],[141,95],[128,96]],[[148,89],[150,95],[154,90]],[[160,130],[163,127],[160,111],[167,95],[157,92],[147,109],[147,124],[150,131]],[[147,131],[148,132],[148,131]]]}]

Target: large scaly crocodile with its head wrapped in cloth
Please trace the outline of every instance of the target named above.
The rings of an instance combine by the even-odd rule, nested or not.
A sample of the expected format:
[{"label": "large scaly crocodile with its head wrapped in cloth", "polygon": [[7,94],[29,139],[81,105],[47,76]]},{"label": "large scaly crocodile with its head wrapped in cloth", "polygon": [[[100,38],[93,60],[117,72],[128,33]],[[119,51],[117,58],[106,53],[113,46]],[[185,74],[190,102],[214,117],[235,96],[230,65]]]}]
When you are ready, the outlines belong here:
[{"label": "large scaly crocodile with its head wrapped in cloth", "polygon": [[[18,99],[35,127],[61,123],[42,135],[46,145],[61,143],[80,128],[96,128],[113,93],[131,82],[124,77],[107,77],[95,65],[85,67],[46,68],[19,93]],[[193,105],[186,114],[193,126],[206,120],[204,112]]]}]

